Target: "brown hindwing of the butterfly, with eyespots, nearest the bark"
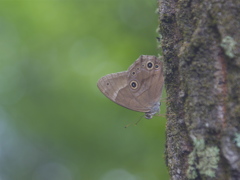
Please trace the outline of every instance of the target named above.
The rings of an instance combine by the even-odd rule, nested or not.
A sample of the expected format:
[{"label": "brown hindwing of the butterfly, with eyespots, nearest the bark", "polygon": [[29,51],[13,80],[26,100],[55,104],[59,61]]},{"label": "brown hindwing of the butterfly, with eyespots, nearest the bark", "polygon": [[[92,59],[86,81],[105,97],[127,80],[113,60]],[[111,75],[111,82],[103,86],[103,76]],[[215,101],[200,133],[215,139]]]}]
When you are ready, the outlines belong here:
[{"label": "brown hindwing of the butterfly, with eyespots, nearest the bark", "polygon": [[[159,104],[163,78],[163,63],[155,56],[140,56],[128,69],[128,81],[136,81],[137,88],[129,87],[139,104],[151,111],[152,107]],[[131,85],[131,83],[129,83]]]}]

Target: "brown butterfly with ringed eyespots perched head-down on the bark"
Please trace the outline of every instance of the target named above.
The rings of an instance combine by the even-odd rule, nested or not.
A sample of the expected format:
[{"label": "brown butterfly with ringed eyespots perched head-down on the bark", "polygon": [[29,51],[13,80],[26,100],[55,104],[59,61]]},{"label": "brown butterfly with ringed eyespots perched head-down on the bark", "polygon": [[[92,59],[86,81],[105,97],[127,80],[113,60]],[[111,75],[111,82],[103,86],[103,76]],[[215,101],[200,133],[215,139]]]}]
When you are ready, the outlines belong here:
[{"label": "brown butterfly with ringed eyespots perched head-down on the bark", "polygon": [[108,74],[97,86],[113,102],[151,119],[160,110],[163,84],[163,63],[156,56],[142,55],[127,71]]}]

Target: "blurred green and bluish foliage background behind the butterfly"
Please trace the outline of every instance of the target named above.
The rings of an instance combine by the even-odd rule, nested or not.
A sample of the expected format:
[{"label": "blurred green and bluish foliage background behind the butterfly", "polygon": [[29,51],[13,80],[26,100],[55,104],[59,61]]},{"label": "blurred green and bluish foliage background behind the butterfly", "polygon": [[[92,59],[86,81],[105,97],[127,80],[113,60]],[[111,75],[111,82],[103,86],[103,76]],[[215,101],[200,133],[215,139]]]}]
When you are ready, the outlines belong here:
[{"label": "blurred green and bluish foliage background behind the butterfly", "polygon": [[[0,179],[164,180],[165,118],[97,89],[157,55],[156,0],[0,2]],[[165,107],[162,106],[161,113]]]}]

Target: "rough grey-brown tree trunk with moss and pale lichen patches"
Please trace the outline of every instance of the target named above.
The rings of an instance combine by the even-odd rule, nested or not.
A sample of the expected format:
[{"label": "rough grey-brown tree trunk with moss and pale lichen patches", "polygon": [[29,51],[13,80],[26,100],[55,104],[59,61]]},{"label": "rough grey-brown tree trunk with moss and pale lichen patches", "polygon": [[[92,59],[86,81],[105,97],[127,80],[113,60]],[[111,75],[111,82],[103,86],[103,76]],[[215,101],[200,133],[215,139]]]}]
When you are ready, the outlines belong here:
[{"label": "rough grey-brown tree trunk with moss and pale lichen patches", "polygon": [[240,179],[240,0],[159,0],[171,179]]}]

